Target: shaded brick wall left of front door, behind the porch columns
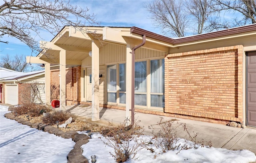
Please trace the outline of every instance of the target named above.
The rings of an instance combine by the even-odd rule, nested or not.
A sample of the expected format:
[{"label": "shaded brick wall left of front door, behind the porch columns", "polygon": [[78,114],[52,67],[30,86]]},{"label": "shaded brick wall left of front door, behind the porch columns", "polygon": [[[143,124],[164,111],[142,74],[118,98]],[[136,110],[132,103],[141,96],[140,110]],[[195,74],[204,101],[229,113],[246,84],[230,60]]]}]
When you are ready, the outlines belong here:
[{"label": "shaded brick wall left of front door, behind the porch columns", "polygon": [[[60,99],[60,71],[59,69],[51,70],[51,101]],[[81,67],[66,68],[66,105],[80,103],[80,82]]]}]

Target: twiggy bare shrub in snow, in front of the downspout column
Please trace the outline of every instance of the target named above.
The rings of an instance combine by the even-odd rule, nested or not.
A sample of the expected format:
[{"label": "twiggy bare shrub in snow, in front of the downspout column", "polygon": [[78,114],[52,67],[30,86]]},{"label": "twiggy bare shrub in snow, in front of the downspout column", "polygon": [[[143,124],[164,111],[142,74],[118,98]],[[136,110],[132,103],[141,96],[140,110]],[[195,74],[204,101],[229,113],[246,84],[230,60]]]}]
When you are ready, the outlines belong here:
[{"label": "twiggy bare shrub in snow, in front of the downspout column", "polygon": [[118,127],[114,127],[110,123],[111,128],[101,132],[105,137],[104,140],[102,139],[104,144],[114,149],[114,153],[110,152],[110,155],[115,158],[117,163],[134,159],[136,153],[143,148],[144,142],[140,139],[142,128],[138,126],[138,122],[135,122],[133,126],[126,127],[127,121],[125,120]]}]

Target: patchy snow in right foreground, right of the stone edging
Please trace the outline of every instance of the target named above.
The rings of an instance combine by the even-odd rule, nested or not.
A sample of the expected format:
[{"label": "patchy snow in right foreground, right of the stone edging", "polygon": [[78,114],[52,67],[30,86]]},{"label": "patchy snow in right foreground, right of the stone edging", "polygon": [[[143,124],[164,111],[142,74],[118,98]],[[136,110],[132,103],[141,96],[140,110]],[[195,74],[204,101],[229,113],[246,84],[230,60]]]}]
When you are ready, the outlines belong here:
[{"label": "patchy snow in right foreground, right of the stone edging", "polygon": [[[86,133],[80,132],[80,134]],[[93,133],[91,137],[92,139],[89,139],[88,143],[82,145],[84,149],[82,155],[88,158],[89,162],[91,162],[90,156],[96,155],[96,163],[115,163],[114,157],[110,155],[110,152],[114,154],[114,150],[102,142],[102,140],[106,141],[106,139],[97,133]],[[146,142],[152,142],[153,140],[150,138],[152,137],[143,137]],[[185,143],[184,139],[181,139],[180,143]],[[256,161],[255,154],[248,150],[233,151],[214,147],[199,147],[198,149],[181,150],[178,154],[176,154],[177,150],[158,154],[161,152],[160,149],[156,149],[154,145],[149,145],[148,147],[152,147],[154,153],[147,149],[142,149],[136,154],[138,159],[132,159],[125,163],[249,163]],[[155,159],[154,155],[157,155]]]}]

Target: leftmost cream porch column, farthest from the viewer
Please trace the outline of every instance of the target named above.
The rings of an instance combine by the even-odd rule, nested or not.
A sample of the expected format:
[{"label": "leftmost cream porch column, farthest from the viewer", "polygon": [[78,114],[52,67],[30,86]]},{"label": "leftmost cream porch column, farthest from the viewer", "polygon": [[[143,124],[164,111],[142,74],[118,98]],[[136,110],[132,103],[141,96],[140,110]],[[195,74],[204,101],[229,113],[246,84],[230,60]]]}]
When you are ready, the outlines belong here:
[{"label": "leftmost cream porch column, farthest from the viewer", "polygon": [[50,63],[44,64],[44,79],[45,79],[45,103],[51,104],[51,85],[50,85]]}]

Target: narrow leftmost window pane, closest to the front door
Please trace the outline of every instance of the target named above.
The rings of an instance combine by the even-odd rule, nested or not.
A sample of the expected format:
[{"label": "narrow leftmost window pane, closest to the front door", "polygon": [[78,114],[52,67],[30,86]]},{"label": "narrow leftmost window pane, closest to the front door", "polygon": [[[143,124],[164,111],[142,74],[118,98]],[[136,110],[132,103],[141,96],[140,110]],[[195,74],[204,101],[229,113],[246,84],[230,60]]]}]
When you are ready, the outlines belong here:
[{"label": "narrow leftmost window pane, closest to the front door", "polygon": [[108,102],[116,102],[116,65],[107,66]]}]

